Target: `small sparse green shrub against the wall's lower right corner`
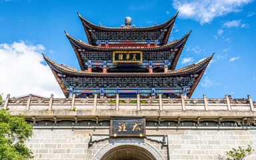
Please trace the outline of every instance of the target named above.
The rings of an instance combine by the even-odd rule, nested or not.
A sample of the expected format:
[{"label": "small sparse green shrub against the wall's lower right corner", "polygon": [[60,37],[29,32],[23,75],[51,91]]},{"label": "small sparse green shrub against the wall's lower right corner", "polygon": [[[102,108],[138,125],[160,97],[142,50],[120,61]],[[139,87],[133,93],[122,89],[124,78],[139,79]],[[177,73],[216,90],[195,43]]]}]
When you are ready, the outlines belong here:
[{"label": "small sparse green shrub against the wall's lower right corner", "polygon": [[226,157],[219,155],[219,160],[241,160],[251,155],[254,149],[252,149],[251,145],[248,145],[247,149],[243,149],[241,146],[238,149],[233,148],[231,151],[226,151]]}]

